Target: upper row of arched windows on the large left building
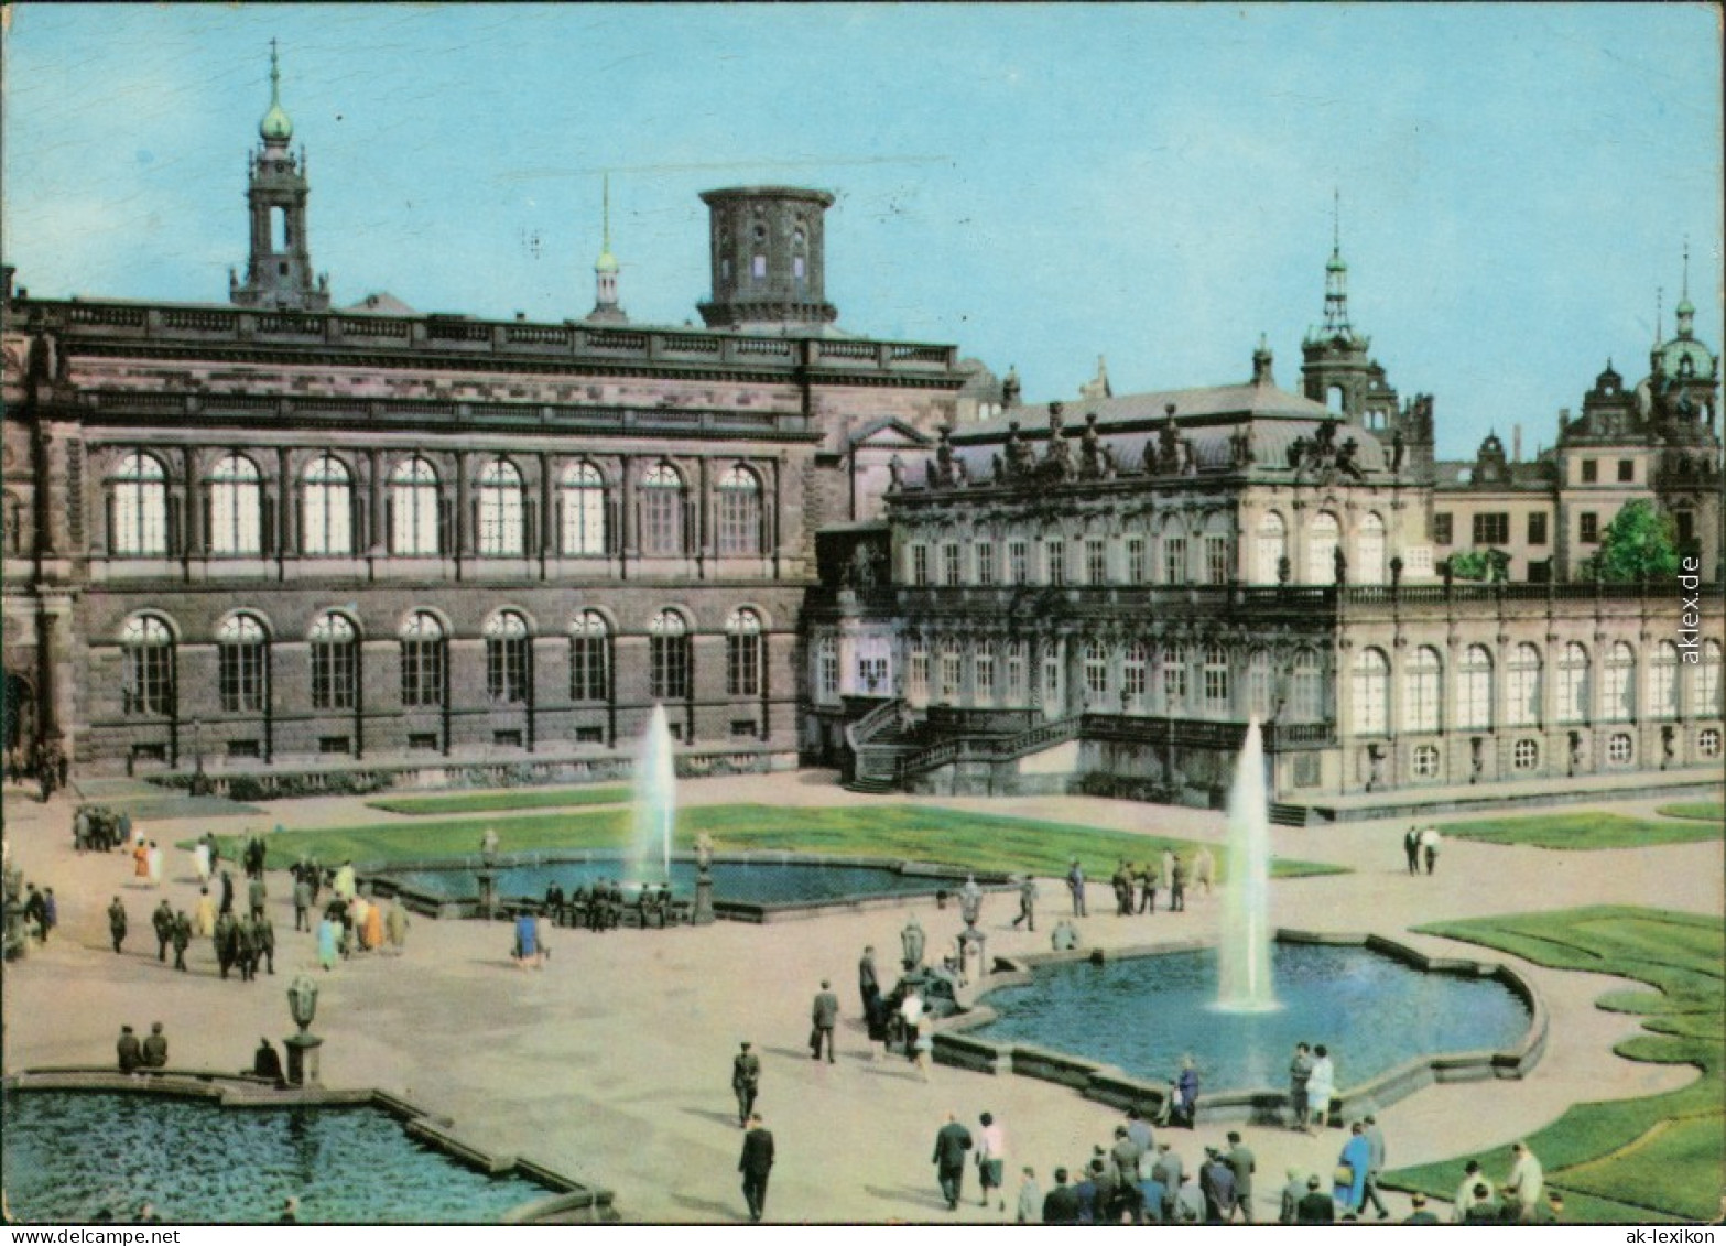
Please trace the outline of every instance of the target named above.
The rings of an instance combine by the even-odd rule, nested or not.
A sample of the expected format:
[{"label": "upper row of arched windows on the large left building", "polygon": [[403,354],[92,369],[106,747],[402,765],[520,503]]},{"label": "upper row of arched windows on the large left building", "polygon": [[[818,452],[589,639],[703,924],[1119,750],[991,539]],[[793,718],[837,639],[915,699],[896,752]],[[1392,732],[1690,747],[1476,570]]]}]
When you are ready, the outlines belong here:
[{"label": "upper row of arched windows on the large left building", "polygon": [[[357,551],[362,516],[356,511],[352,469],[338,457],[314,459],[299,480],[299,552],[350,556]],[[759,556],[766,545],[761,478],[749,468],[728,468],[716,485],[716,542],[725,556]],[[266,551],[264,478],[243,454],[221,459],[204,481],[204,542],[211,554],[255,556]],[[557,480],[557,551],[566,557],[602,556],[620,544],[614,533],[613,490],[592,463],[573,463]],[[521,469],[492,459],[475,476],[473,540],[482,557],[521,557],[537,545],[537,504],[523,487]],[[390,473],[385,494],[383,544],[390,554],[438,556],[454,549],[452,507],[437,468],[411,457]],[[183,542],[167,471],[150,454],[128,454],[109,478],[109,552],[159,557]],[[689,487],[682,473],[659,463],[639,478],[637,542],[646,556],[682,556],[692,545]]]}]

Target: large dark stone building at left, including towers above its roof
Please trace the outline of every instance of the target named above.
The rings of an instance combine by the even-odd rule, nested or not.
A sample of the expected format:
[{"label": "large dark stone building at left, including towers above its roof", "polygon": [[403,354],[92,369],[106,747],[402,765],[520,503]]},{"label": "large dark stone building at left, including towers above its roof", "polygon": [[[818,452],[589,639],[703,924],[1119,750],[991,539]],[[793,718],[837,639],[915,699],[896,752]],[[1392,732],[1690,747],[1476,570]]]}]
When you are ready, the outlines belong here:
[{"label": "large dark stone building at left, including towers above its roof", "polygon": [[609,224],[582,319],[331,307],[271,85],[228,304],[5,273],[9,752],[573,778],[663,702],[690,771],[796,765],[815,532],[953,421],[953,347],[839,331],[789,188],[702,195],[704,330],[630,324]]}]

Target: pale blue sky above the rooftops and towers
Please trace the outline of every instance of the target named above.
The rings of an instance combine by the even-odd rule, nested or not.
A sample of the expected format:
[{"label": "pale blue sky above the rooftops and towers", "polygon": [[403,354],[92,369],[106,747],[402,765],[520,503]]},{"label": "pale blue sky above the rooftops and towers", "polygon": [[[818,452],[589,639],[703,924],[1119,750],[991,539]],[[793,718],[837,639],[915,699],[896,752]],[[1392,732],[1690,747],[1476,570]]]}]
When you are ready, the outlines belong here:
[{"label": "pale blue sky above the rooftops and towers", "polygon": [[[601,173],[632,318],[697,319],[696,193],[834,190],[828,299],[1027,399],[1293,388],[1332,190],[1351,312],[1439,452],[1647,371],[1690,238],[1721,343],[1707,5],[9,7],[5,255],[36,295],[226,299],[268,45],[337,302],[564,319]],[[697,319],[699,323],[699,319]],[[1509,440],[1509,438],[1507,438]]]}]

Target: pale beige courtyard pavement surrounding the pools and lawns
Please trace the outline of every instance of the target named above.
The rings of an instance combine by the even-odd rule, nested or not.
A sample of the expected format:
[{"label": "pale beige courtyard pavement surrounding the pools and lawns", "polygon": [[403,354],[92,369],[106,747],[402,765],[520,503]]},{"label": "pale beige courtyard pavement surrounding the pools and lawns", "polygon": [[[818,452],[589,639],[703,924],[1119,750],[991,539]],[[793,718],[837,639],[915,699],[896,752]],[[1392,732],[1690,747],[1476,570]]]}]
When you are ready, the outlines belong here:
[{"label": "pale beige courtyard pavement surrounding the pools and lawns", "polygon": [[[57,801],[43,808],[19,792],[7,790],[7,837],[26,877],[55,887],[60,930],[45,949],[7,966],[7,1068],[107,1061],[123,1022],[143,1027],[162,1020],[171,1063],[238,1070],[249,1065],[259,1035],[280,1039],[292,1030],[287,982],[314,963],[314,949],[311,935],[293,934],[285,875],[269,878],[280,941],[274,979],[250,985],[217,980],[207,941],[193,946],[192,973],[174,973],[155,961],[148,913],[157,894],[135,885],[129,859],[117,853],[74,856],[71,806]],[[834,787],[823,771],[687,782],[680,796],[685,802],[782,806],[908,801],[1206,840],[1224,835],[1220,815],[1205,811],[1091,797],[872,797]],[[1610,808],[1650,811],[1647,802]],[[366,809],[359,799],[318,799],[273,804],[262,816],[216,827],[383,820],[388,815]],[[147,832],[166,844],[207,825],[152,821]],[[1279,854],[1332,861],[1353,873],[1277,882],[1272,920],[1376,930],[1427,949],[1510,960],[1545,997],[1553,1025],[1548,1051],[1529,1077],[1429,1087],[1379,1113],[1393,1167],[1509,1144],[1579,1099],[1652,1094],[1690,1080],[1688,1068],[1636,1065],[1610,1053],[1638,1029],[1636,1018],[1593,1006],[1612,979],[1543,970],[1403,932],[1438,918],[1591,903],[1721,913],[1726,861],[1719,840],[1609,853],[1455,840],[1445,844],[1434,877],[1410,878],[1402,830],[1402,823],[1274,828]],[[190,906],[195,890],[190,856],[171,851],[162,892],[176,906]],[[1115,918],[1106,913],[1106,885],[1093,890],[1094,916],[1080,923],[1093,946],[1208,937],[1220,908],[1215,897],[1196,896],[1184,915]],[[104,909],[114,894],[131,913],[123,956],[107,946]],[[1058,884],[1044,885],[1049,916],[1060,894]],[[1117,1115],[1030,1079],[935,1067],[923,1084],[899,1060],[868,1058],[856,1022],[856,960],[863,944],[873,942],[882,963],[891,963],[898,930],[913,908],[932,946],[956,934],[958,913],[939,913],[934,901],[768,927],[554,932],[544,972],[511,965],[502,923],[416,920],[402,958],[362,954],[333,973],[318,973],[324,1082],[406,1094],[452,1117],[461,1136],[487,1149],[520,1153],[611,1187],[627,1220],[732,1224],[744,1220],[744,1206],[730,1060],[737,1042],[751,1039],[765,1065],[759,1110],[778,1144],[770,1220],[999,1222],[1001,1211],[975,1203],[973,1167],[967,1206],[948,1213],[939,1199],[930,1149],[948,1110],[972,1127],[980,1111],[992,1111],[1005,1125],[1010,1206],[1022,1165],[1036,1167],[1046,1191],[1056,1165],[1077,1168],[1094,1142],[1108,1141]],[[1046,935],[1013,932],[1011,916],[1003,897],[986,904],[991,951],[1046,946]],[[822,977],[834,980],[844,1010],[839,1063],[832,1067],[811,1061],[804,1046],[809,999]],[[1346,1086],[1346,1029],[1338,1046]],[[1205,1144],[1220,1144],[1227,1129],[1177,1130],[1175,1149],[1187,1168]],[[1326,1137],[1267,1127],[1243,1132],[1258,1155],[1260,1218],[1276,1215],[1288,1167],[1327,1175],[1345,1141],[1339,1130]],[[1402,1201],[1393,1206],[1398,1215],[1405,1210]]]}]

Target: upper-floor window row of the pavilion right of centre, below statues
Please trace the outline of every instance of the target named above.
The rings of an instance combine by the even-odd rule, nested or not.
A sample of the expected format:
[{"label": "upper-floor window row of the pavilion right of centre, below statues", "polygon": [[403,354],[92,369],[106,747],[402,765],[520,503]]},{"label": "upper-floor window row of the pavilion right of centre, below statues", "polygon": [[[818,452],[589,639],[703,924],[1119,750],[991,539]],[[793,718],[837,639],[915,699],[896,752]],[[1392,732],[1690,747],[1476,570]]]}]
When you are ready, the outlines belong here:
[{"label": "upper-floor window row of the pavilion right of centre, below statues", "polygon": [[[946,540],[932,547],[910,545],[910,583],[920,588],[941,583],[958,587],[975,583],[1006,585],[1106,585],[1106,583],[1206,583],[1225,585],[1238,578],[1236,542],[1227,533],[1167,530],[1156,537],[1124,537],[1117,547],[1103,537],[1070,542],[1065,537],[1041,540],[1011,538],[967,544]],[[1320,511],[1307,525],[1305,563],[1289,564],[1289,535],[1282,516],[1269,511],[1253,533],[1251,582],[1281,583],[1300,573],[1298,583],[1336,583],[1341,528],[1336,516]],[[1386,532],[1377,514],[1362,516],[1353,542],[1353,559],[1346,575],[1357,583],[1383,583],[1386,576]],[[1070,552],[1077,557],[1070,557]],[[1155,564],[1153,564],[1155,559]]]}]

